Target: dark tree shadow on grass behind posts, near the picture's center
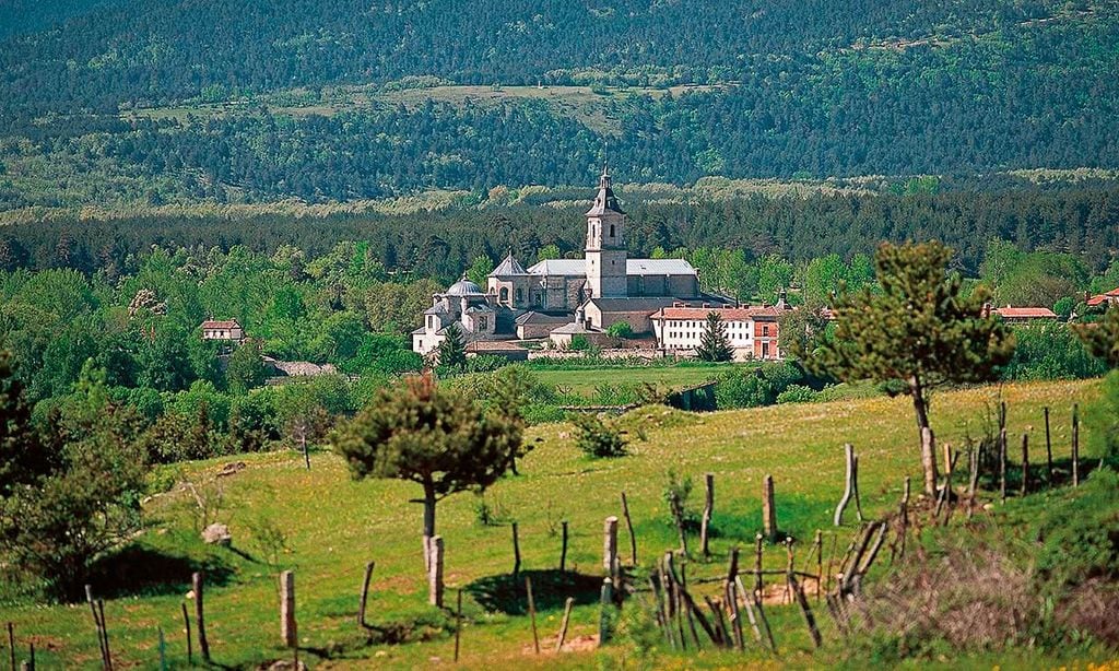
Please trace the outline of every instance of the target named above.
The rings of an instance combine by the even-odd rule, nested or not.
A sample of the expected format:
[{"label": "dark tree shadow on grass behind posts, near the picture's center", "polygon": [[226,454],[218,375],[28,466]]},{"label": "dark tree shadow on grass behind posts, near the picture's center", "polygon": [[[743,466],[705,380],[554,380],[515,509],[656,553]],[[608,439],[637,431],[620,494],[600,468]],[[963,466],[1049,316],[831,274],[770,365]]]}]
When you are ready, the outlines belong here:
[{"label": "dark tree shadow on grass behind posts, near the picture's center", "polygon": [[533,602],[537,611],[561,609],[567,597],[574,598],[576,605],[595,604],[602,589],[601,576],[548,569],[523,570],[516,577],[504,574],[478,578],[467,585],[466,590],[491,613],[525,615],[528,613],[525,578],[533,582]]}]

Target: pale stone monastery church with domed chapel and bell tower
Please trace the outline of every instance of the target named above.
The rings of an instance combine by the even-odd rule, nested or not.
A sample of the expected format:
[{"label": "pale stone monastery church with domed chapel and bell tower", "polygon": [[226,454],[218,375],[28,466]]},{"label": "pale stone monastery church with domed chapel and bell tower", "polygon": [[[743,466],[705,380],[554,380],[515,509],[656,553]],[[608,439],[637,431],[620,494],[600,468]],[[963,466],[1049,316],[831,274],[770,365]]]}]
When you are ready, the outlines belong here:
[{"label": "pale stone monastery church with domed chapel and bell tower", "polygon": [[485,290],[463,276],[432,296],[424,325],[412,333],[413,350],[431,353],[452,324],[468,342],[604,333],[620,321],[634,332],[651,333],[651,315],[664,308],[726,302],[700,292],[698,274],[687,261],[629,258],[627,215],[606,169],[585,218],[583,258],[547,259],[526,268],[510,253],[489,274]]}]

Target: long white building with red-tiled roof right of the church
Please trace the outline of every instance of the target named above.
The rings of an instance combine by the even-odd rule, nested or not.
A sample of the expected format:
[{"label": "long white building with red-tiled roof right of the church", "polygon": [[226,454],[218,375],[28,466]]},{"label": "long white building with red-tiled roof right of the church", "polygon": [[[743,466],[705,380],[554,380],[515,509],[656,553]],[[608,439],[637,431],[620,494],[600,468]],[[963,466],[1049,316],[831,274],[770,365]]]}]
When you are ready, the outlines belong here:
[{"label": "long white building with red-tiled roof right of the church", "polygon": [[657,349],[665,356],[694,356],[707,330],[707,315],[715,313],[723,320],[736,361],[777,361],[783,358],[778,344],[781,329],[778,320],[790,310],[784,301],[741,308],[673,305],[661,308],[649,319],[657,336]]}]

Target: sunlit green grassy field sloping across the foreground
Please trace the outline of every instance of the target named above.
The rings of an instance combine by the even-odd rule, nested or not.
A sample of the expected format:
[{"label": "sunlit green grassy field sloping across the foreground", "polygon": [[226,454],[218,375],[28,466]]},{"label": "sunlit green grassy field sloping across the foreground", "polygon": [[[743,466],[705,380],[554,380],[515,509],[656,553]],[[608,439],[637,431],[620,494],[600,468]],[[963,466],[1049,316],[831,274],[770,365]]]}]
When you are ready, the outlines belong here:
[{"label": "sunlit green grassy field sloping across the foreground", "polygon": [[[570,371],[564,372],[570,376]],[[609,376],[610,374],[605,374]],[[574,379],[574,378],[568,378]],[[573,382],[572,382],[573,384]],[[1009,406],[1012,434],[1032,432],[1037,438],[1042,407],[1053,409],[1053,440],[1057,455],[1069,451],[1070,413],[1074,401],[1097,393],[1097,382],[1047,382],[977,388],[938,394],[932,420],[942,441],[960,444],[976,436],[999,398]],[[999,396],[1002,394],[1002,396]],[[634,518],[639,563],[646,564],[675,545],[661,499],[669,469],[690,475],[702,489],[705,472],[715,474],[715,538],[712,563],[693,561],[688,575],[725,570],[727,549],[752,542],[761,526],[759,494],[767,473],[775,481],[780,527],[801,541],[824,529],[830,542],[831,508],[841,493],[845,442],[856,445],[861,460],[863,508],[875,516],[896,505],[905,475],[918,475],[912,409],[905,398],[871,398],[829,404],[786,405],[709,415],[683,415],[664,408],[641,409],[626,419],[643,427],[645,442],[632,454],[593,461],[573,446],[565,425],[534,428],[540,438],[524,460],[521,475],[509,478],[486,494],[505,521],[517,520],[524,555],[523,570],[537,585],[538,624],[543,648],[551,648],[563,599],[577,606],[568,639],[596,632],[596,586],[601,577],[602,523],[620,514],[619,493],[626,491]],[[1038,443],[1034,443],[1038,444]],[[227,478],[215,474],[229,462],[246,466]],[[420,510],[408,499],[416,485],[396,481],[354,482],[345,464],[328,453],[316,454],[312,470],[294,453],[228,457],[189,464],[180,475],[198,484],[214,503],[222,488],[216,518],[228,523],[233,549],[204,546],[194,497],[175,491],[147,503],[150,528],[137,539],[128,558],[115,561],[95,583],[106,595],[105,615],[119,667],[154,668],[157,627],[168,641],[172,667],[186,664],[180,604],[192,569],[205,566],[208,637],[215,662],[252,667],[288,658],[280,643],[275,574],[293,569],[298,594],[302,659],[320,669],[376,665],[416,668],[450,661],[453,636],[449,617],[426,605],[420,551]],[[208,484],[207,484],[208,483]],[[207,494],[207,492],[209,492]],[[692,505],[702,505],[702,491]],[[464,589],[467,626],[462,639],[466,668],[617,667],[632,650],[620,642],[603,652],[585,650],[561,655],[532,653],[524,604],[507,574],[513,566],[510,529],[506,523],[482,526],[476,519],[479,500],[455,494],[439,507],[438,528],[446,544],[449,602]],[[561,520],[570,520],[572,547],[568,567],[576,576],[558,576]],[[280,527],[286,549],[272,565],[269,544],[261,537]],[[846,542],[853,529],[838,531]],[[806,544],[807,545],[807,544]],[[629,558],[629,538],[620,537]],[[825,547],[828,547],[827,545]],[[376,637],[404,640],[398,645],[370,644],[355,624],[357,596],[366,561],[375,560],[368,620],[382,627]],[[784,552],[771,549],[768,561],[783,566]],[[171,577],[170,583],[154,579]],[[148,578],[152,578],[148,582]],[[144,584],[144,587],[138,585]],[[128,585],[128,589],[115,586]],[[836,641],[822,613],[825,636]],[[838,645],[809,652],[810,645],[789,607],[772,607],[782,663],[820,665],[840,661]],[[90,612],[83,605],[6,605],[0,622],[16,623],[17,637],[35,642],[40,668],[95,668],[97,642]],[[420,622],[420,624],[415,624]],[[583,645],[576,643],[576,645]],[[196,644],[197,655],[197,644]],[[196,658],[197,659],[197,658]],[[747,659],[762,661],[760,653]],[[741,663],[741,656],[705,652],[687,660],[671,658],[661,665],[694,668]],[[1040,660],[1023,653],[1006,668],[1028,668]],[[988,663],[990,662],[990,663]],[[946,668],[951,660],[942,660]]]}]

